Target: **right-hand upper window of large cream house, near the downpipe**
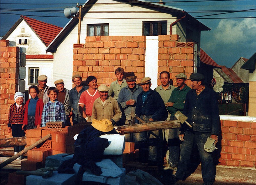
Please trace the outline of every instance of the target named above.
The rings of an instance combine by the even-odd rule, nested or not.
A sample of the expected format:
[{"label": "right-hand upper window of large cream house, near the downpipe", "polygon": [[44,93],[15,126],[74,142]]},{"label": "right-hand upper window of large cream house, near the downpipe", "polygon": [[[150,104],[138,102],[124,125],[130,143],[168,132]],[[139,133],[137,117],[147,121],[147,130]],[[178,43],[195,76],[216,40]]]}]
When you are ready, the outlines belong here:
[{"label": "right-hand upper window of large cream house, near the downpipe", "polygon": [[142,25],[144,36],[167,35],[167,21],[147,21],[142,22]]}]

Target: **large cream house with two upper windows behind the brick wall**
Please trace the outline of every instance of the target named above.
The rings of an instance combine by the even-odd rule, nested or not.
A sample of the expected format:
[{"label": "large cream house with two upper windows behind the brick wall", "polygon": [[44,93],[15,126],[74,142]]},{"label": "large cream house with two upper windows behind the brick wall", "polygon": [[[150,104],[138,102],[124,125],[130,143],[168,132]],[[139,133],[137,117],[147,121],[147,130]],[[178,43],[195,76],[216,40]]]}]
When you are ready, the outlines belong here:
[{"label": "large cream house with two upper windows behind the brick wall", "polygon": [[[152,79],[154,83],[157,81],[157,67],[149,67],[149,69],[155,70],[149,72],[147,65],[156,63],[157,66],[158,35],[177,34],[179,42],[188,40],[193,42],[196,45],[195,53],[197,55],[199,53],[197,48],[200,48],[201,31],[210,30],[182,9],[142,0],[88,0],[81,13],[83,17],[81,43],[85,43],[84,39],[87,36],[147,36],[145,75],[154,74],[154,79]],[[54,68],[62,69],[54,71],[53,78],[63,79],[68,89],[72,88],[73,71],[70,69],[73,68],[73,44],[77,42],[77,32],[78,19],[71,18],[46,48],[46,52],[54,53]],[[150,56],[150,54],[154,56]],[[83,54],[79,57],[81,61],[85,60]],[[195,58],[197,59],[197,57]]]}]

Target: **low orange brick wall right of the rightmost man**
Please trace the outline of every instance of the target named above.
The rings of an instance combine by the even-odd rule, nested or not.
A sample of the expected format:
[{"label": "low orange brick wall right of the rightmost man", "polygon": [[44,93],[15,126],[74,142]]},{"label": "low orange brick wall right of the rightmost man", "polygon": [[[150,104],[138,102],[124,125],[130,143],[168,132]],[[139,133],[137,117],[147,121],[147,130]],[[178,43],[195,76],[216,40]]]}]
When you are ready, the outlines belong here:
[{"label": "low orange brick wall right of the rightmost man", "polygon": [[256,122],[221,120],[220,164],[256,167]]}]

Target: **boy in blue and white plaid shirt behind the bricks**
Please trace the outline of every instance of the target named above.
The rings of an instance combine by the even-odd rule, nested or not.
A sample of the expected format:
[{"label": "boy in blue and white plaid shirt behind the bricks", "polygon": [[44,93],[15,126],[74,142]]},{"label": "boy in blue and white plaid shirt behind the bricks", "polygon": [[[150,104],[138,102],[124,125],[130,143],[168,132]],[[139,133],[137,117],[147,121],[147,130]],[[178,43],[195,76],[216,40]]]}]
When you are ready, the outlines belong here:
[{"label": "boy in blue and white plaid shirt behind the bricks", "polygon": [[50,101],[44,105],[42,113],[42,127],[50,121],[66,121],[65,108],[61,102],[57,100],[58,89],[50,87],[47,91]]}]

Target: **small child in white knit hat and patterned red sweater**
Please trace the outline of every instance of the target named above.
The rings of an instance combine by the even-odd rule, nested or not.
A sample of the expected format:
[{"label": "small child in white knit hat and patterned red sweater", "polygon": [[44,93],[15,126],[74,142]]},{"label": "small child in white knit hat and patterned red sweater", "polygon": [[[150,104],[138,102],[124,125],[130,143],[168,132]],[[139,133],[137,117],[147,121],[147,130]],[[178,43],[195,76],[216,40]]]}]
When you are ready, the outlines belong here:
[{"label": "small child in white knit hat and patterned red sweater", "polygon": [[[14,95],[15,103],[11,105],[8,115],[8,132],[12,131],[12,137],[23,137],[25,136],[24,130],[21,129],[24,113],[25,113],[25,105],[23,103],[24,96],[21,92],[16,92]],[[14,155],[23,150],[25,146],[14,146]],[[16,160],[21,160],[22,156],[17,158]]]}]

